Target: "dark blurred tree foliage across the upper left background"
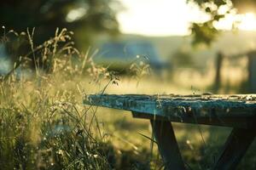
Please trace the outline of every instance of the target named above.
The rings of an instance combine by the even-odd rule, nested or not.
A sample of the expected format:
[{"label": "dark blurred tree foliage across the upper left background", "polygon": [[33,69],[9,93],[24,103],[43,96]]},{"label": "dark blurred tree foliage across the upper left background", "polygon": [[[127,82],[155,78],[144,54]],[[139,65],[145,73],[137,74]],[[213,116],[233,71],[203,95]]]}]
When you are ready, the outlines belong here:
[{"label": "dark blurred tree foliage across the upper left background", "polygon": [[2,0],[0,20],[15,31],[36,27],[34,39],[44,42],[54,36],[56,27],[117,33],[119,7],[115,0]]}]

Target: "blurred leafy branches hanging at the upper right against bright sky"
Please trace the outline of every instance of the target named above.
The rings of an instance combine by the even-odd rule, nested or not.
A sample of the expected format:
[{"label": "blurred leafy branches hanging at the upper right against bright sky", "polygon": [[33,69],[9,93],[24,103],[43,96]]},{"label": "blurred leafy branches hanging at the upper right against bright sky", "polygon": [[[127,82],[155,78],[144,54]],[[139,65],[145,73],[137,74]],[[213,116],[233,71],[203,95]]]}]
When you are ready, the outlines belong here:
[{"label": "blurred leafy branches hanging at the upper right against bright sky", "polygon": [[[227,14],[242,14],[255,12],[256,0],[187,0],[197,4],[208,16],[209,20],[191,25],[194,43],[207,43],[208,45],[218,36],[218,30],[214,26]],[[234,23],[235,24],[235,23]]]}]

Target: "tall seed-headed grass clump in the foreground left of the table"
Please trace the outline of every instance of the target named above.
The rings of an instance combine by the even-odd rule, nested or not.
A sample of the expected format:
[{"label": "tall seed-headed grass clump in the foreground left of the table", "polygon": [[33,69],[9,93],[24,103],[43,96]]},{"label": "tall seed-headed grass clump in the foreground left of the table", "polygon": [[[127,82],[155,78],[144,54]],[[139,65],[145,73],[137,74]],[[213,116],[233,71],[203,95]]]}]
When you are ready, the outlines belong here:
[{"label": "tall seed-headed grass clump in the foreground left of the table", "polygon": [[[5,32],[5,30],[4,30]],[[0,82],[1,169],[111,169],[96,110],[80,105],[84,90],[75,78],[115,78],[74,48],[73,32],[62,29],[36,46],[32,31],[8,31],[2,43],[27,43],[26,54]],[[20,44],[18,43],[20,42]],[[27,72],[31,72],[28,77]]]}]

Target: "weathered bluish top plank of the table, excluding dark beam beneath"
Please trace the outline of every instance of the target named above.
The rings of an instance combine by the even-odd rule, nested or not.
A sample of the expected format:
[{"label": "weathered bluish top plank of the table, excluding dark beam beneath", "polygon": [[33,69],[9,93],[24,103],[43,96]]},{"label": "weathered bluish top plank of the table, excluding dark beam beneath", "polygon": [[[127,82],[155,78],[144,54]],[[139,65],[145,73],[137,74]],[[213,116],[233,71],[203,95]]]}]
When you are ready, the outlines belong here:
[{"label": "weathered bluish top plank of the table, excluding dark beam beneath", "polygon": [[137,111],[162,116],[254,116],[256,95],[233,96],[148,96],[148,95],[90,95],[84,104]]}]

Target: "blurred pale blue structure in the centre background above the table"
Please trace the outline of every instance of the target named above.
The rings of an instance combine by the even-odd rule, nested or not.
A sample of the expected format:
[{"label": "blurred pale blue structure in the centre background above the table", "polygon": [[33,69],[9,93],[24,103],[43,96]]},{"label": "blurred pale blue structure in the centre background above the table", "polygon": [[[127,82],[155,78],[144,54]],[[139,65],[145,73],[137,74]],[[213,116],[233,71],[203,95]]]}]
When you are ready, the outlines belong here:
[{"label": "blurred pale blue structure in the centre background above the table", "polygon": [[154,46],[147,41],[105,42],[94,61],[113,70],[124,70],[139,62],[150,65],[154,70],[167,66]]}]

